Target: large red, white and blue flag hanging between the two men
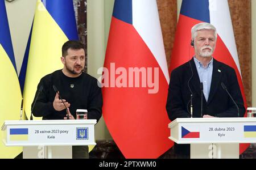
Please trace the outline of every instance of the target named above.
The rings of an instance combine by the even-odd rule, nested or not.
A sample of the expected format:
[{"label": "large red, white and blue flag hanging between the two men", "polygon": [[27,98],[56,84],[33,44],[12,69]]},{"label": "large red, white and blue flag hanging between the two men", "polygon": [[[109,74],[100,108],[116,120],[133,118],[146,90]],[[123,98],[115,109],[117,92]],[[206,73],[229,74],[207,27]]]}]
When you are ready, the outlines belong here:
[{"label": "large red, white and blue flag hanging between the two men", "polygon": [[103,116],[125,158],[158,158],[173,145],[165,107],[169,80],[156,1],[115,0]]}]

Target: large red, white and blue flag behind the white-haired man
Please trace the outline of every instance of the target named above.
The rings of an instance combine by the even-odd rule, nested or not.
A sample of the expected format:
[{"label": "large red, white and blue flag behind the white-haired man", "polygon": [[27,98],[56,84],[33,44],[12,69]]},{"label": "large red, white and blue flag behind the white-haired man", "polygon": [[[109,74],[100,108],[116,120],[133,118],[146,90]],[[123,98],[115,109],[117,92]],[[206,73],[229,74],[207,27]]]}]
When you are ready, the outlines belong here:
[{"label": "large red, white and blue flag behind the white-haired man", "polygon": [[[170,73],[176,67],[188,62],[188,60],[192,58],[193,52],[190,50],[193,49],[189,48],[191,42],[191,28],[193,25],[201,22],[211,23],[216,27],[218,38],[213,56],[218,61],[224,62],[226,65],[229,65],[236,70],[238,83],[246,108],[241,70],[227,0],[182,1],[174,48],[172,50],[169,68]],[[245,151],[247,146],[248,145],[240,145],[240,153]]]}]

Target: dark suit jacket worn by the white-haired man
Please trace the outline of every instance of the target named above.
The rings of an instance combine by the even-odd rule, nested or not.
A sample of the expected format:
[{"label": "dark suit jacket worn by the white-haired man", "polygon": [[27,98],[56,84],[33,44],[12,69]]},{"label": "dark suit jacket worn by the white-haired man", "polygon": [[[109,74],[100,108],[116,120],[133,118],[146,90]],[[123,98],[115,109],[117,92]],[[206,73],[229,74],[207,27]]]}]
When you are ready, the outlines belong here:
[{"label": "dark suit jacket worn by the white-haired man", "polygon": [[[189,62],[191,66],[189,66]],[[171,73],[168,90],[166,109],[171,121],[176,118],[191,117],[190,99],[193,94],[193,117],[201,117],[201,90],[200,79],[193,58],[187,63],[177,67]],[[193,76],[192,70],[193,70]],[[188,87],[188,80],[189,87]],[[214,117],[238,117],[236,105],[230,99],[228,93],[222,88],[221,82],[225,84],[229,93],[239,107],[239,117],[245,114],[243,98],[235,70],[213,59],[212,83],[208,101],[203,95],[203,115],[209,114]]]}]

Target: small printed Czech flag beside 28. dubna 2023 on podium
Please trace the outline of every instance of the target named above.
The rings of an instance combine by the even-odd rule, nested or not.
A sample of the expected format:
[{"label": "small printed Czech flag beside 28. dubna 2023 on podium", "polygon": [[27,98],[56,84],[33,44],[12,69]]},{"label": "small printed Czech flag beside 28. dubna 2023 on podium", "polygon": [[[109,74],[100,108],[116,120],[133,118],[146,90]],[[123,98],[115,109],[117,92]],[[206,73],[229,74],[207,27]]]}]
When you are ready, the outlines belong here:
[{"label": "small printed Czech flag beside 28. dubna 2023 on podium", "polygon": [[181,126],[181,138],[200,138],[199,126]]}]

